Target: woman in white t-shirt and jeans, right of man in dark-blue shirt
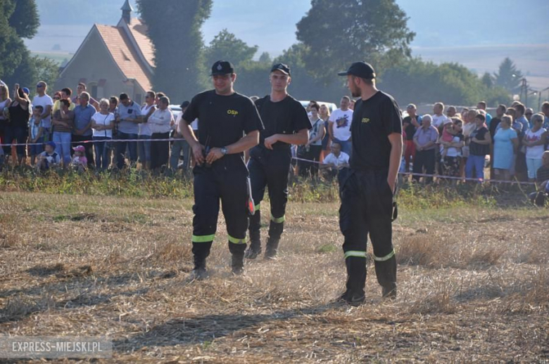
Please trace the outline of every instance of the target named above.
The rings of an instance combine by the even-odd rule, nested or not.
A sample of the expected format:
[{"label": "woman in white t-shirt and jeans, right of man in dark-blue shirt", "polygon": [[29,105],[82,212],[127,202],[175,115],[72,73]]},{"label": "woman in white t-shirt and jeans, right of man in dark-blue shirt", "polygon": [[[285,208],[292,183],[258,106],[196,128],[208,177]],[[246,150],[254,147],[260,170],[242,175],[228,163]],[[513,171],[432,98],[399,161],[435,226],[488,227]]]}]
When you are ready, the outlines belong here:
[{"label": "woman in white t-shirt and jeans, right of man in dark-blue shirt", "polygon": [[94,130],[95,167],[97,170],[105,170],[110,164],[107,157],[107,141],[113,138],[115,116],[109,112],[109,101],[101,98],[99,112],[92,117],[92,129]]}]

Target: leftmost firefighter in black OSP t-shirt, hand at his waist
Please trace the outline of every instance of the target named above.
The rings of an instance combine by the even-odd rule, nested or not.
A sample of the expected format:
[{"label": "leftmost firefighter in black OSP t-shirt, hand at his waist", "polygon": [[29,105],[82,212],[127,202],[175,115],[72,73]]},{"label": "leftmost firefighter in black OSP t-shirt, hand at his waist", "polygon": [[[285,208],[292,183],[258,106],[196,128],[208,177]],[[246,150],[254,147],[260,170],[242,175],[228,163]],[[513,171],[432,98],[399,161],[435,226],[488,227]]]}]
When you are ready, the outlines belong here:
[{"label": "leftmost firefighter in black OSP t-shirt, hand at his waist", "polygon": [[[206,257],[217,228],[220,200],[229,235],[232,271],[244,271],[248,228],[248,169],[244,151],[258,145],[263,129],[252,100],[233,89],[236,74],[231,63],[212,67],[214,90],[198,93],[185,110],[179,128],[191,145],[194,167],[192,279],[206,278]],[[190,123],[198,118],[198,135]]]}]

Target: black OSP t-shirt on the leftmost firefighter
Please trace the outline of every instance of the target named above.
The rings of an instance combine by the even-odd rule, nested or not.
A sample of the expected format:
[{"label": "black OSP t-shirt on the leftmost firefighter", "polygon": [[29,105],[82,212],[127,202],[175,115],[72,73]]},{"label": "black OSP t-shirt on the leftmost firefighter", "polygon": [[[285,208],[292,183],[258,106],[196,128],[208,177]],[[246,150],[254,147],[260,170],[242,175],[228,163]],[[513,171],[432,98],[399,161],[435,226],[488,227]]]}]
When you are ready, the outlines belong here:
[{"label": "black OSP t-shirt on the leftmost firefighter", "polygon": [[[240,93],[220,96],[215,90],[198,93],[191,100],[183,119],[191,124],[198,118],[198,141],[210,148],[222,148],[239,141],[244,134],[263,129],[253,101]],[[244,157],[225,155],[221,160]]]}]

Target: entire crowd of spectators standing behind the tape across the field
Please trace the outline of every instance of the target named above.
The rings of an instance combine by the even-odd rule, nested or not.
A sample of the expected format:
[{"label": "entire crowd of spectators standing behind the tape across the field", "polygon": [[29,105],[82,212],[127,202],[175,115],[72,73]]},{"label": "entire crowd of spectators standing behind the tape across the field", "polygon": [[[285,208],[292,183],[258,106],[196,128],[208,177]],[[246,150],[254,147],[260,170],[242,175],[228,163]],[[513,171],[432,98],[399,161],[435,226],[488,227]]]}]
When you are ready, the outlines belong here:
[{"label": "entire crowd of spectators standing behind the tape across the field", "polygon": [[[38,82],[31,99],[29,89],[15,84],[10,93],[0,82],[0,164],[8,160],[27,164],[29,155],[30,165],[40,170],[191,167],[189,144],[164,93],[149,91],[143,105],[138,105],[125,93],[95,100],[82,83],[75,96],[67,87],[52,98],[47,88],[46,82]],[[188,105],[182,103],[182,110]],[[294,148],[296,174],[341,178],[347,173],[353,108],[354,100],[348,96],[341,98],[336,110],[310,101],[312,129],[308,143]],[[191,126],[197,132],[196,120]],[[484,101],[461,110],[435,103],[432,114],[425,115],[410,104],[403,111],[401,171],[411,174],[416,183],[448,177],[452,183],[465,178],[484,181],[486,171],[493,180],[537,181],[545,188],[548,130],[548,102],[538,113],[518,101],[509,107],[498,105],[494,115],[486,111]]]}]

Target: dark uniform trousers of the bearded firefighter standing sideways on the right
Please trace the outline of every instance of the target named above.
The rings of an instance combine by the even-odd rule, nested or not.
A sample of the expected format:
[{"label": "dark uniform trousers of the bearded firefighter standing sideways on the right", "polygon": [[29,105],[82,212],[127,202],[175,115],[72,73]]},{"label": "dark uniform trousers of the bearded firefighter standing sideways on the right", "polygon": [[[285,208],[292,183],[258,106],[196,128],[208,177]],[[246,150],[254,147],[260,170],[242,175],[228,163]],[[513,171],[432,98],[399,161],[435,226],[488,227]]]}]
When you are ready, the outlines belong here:
[{"label": "dark uniform trousers of the bearded firefighter standing sideways on the right", "polygon": [[396,287],[396,257],[392,242],[393,192],[387,170],[351,171],[341,186],[339,227],[345,237],[347,290],[363,292],[366,282],[368,235],[374,249],[377,281]]}]

